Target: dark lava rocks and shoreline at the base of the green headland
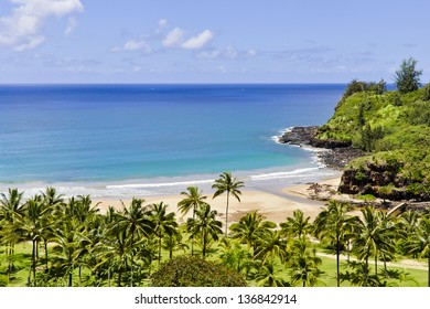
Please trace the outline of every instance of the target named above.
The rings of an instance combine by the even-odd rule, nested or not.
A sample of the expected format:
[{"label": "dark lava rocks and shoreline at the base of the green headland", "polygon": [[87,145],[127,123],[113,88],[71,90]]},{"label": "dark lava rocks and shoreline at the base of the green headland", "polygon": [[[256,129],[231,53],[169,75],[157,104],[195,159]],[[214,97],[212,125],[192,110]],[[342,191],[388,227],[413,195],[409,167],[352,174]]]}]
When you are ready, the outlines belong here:
[{"label": "dark lava rocks and shoreline at the base of the green headland", "polygon": [[[311,199],[320,201],[329,201],[331,199],[348,202],[355,206],[363,206],[372,204],[381,209],[393,209],[401,204],[399,211],[417,210],[422,211],[430,206],[429,202],[412,201],[408,199],[405,191],[394,190],[393,192],[380,194],[380,188],[388,183],[387,168],[372,166],[370,172],[366,174],[366,184],[356,184],[356,172],[354,169],[348,170],[345,167],[354,159],[365,156],[363,150],[353,148],[351,142],[343,142],[337,140],[318,139],[318,126],[310,127],[293,127],[279,137],[280,143],[293,145],[299,147],[311,147],[315,149],[323,149],[324,151],[316,151],[319,159],[330,169],[343,172],[341,183],[337,188],[333,185],[311,183],[308,189],[308,195]],[[373,172],[372,172],[373,171]],[[391,175],[391,173],[389,173]],[[393,173],[391,177],[394,177]],[[379,196],[376,199],[358,199],[357,195],[370,194]]]}]

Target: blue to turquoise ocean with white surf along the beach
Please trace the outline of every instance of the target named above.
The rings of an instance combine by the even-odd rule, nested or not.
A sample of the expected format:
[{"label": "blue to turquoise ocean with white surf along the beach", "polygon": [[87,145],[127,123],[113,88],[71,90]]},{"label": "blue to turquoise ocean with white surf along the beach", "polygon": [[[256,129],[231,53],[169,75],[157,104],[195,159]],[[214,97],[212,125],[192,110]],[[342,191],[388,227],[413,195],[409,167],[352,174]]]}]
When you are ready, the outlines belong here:
[{"label": "blue to turquoise ocean with white surf along the beach", "polygon": [[223,171],[255,184],[326,174],[312,152],[272,137],[324,124],[344,88],[1,85],[0,183],[103,188],[99,195],[118,195],[127,188],[208,183]]}]

